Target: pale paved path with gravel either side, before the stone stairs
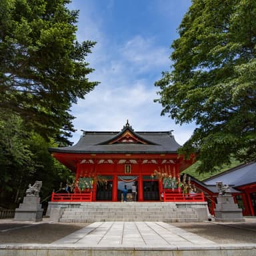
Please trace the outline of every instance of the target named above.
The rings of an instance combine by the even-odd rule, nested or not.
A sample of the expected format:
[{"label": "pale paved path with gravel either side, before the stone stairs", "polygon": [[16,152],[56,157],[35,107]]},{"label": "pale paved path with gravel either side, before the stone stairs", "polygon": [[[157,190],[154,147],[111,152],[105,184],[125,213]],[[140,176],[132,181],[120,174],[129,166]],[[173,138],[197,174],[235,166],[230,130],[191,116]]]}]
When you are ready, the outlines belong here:
[{"label": "pale paved path with gravel either side, before the stone stairs", "polygon": [[[170,225],[169,225],[170,224]],[[107,245],[106,237],[113,243],[171,245],[177,243],[256,243],[256,218],[246,218],[245,223],[51,223],[49,219],[33,223],[12,219],[0,220],[0,244],[7,243],[80,243],[95,241]],[[154,237],[154,238],[153,238]],[[157,237],[157,239],[156,239]],[[201,238],[200,238],[201,237]],[[153,238],[153,239],[152,239]],[[110,245],[110,244],[109,244]]]}]

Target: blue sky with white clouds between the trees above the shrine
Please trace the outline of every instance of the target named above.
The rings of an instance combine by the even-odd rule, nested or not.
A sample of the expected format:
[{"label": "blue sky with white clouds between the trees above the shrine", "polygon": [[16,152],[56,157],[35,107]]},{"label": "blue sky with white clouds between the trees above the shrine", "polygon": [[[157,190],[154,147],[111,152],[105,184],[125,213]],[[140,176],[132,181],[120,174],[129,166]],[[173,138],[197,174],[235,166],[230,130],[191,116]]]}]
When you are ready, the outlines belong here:
[{"label": "blue sky with white clouds between the trees above the shrine", "polygon": [[101,83],[73,105],[77,143],[82,132],[121,131],[127,119],[135,131],[173,131],[185,143],[195,126],[161,116],[155,81],[170,71],[170,45],[190,0],[73,0],[79,9],[77,39],[97,41],[87,58]]}]

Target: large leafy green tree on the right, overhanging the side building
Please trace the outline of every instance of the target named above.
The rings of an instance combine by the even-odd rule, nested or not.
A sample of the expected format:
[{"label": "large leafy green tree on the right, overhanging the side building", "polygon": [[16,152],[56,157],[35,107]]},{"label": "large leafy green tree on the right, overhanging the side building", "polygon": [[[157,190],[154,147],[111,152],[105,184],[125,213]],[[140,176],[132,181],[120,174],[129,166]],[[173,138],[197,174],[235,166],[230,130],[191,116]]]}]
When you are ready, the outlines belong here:
[{"label": "large leafy green tree on the right, overhanging the side building", "polygon": [[155,83],[162,115],[197,129],[181,153],[199,171],[256,159],[256,1],[194,0],[171,47],[172,69]]}]

